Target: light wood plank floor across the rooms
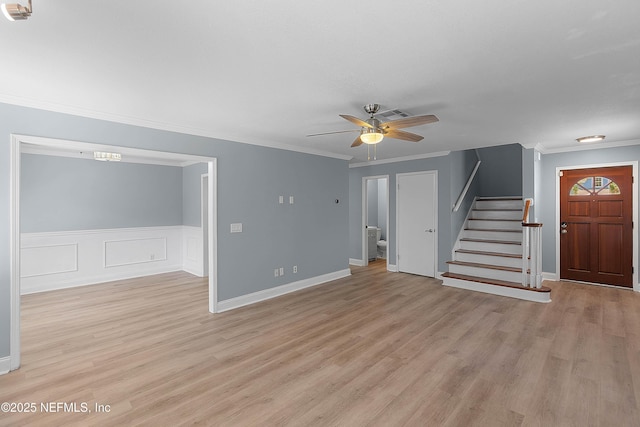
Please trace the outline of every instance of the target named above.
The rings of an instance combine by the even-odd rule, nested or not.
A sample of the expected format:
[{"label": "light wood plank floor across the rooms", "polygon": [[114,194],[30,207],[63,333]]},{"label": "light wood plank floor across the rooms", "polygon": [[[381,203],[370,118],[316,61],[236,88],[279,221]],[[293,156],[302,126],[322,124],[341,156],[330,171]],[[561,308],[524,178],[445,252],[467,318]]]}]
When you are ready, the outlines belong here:
[{"label": "light wood plank floor across the rooms", "polygon": [[[382,267],[382,268],[381,268]],[[640,425],[640,295],[546,283],[539,304],[354,267],[222,313],[186,273],[29,295],[0,425]]]}]

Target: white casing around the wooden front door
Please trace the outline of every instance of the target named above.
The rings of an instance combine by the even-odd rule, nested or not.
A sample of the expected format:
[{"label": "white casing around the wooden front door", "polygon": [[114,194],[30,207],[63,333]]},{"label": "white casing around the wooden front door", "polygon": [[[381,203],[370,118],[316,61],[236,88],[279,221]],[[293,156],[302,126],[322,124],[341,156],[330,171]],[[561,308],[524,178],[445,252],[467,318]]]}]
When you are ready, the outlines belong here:
[{"label": "white casing around the wooden front door", "polygon": [[[628,161],[628,162],[611,162],[611,163],[596,163],[596,164],[586,164],[586,165],[573,165],[573,166],[558,166],[556,167],[556,222],[554,226],[555,231],[555,246],[556,246],[556,274],[555,280],[560,280],[560,172],[563,170],[575,170],[575,169],[595,169],[595,168],[608,168],[608,167],[616,167],[616,166],[631,166],[632,167],[632,179],[633,183],[631,185],[631,205],[633,209],[632,221],[634,224],[633,227],[633,250],[632,250],[632,263],[633,263],[633,275],[632,275],[632,284],[633,290],[635,292],[640,292],[640,284],[638,284],[638,161]],[[595,283],[596,285],[601,286],[612,286]],[[616,286],[616,288],[620,288]]]}]

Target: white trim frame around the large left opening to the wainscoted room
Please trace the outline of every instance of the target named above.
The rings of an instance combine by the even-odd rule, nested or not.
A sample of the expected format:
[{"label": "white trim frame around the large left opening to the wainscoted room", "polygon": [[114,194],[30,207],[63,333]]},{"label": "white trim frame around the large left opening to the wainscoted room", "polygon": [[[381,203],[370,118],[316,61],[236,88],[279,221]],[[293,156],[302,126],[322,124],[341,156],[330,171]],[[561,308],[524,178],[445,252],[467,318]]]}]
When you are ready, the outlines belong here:
[{"label": "white trim frame around the large left opening to the wainscoted room", "polygon": [[73,148],[79,151],[117,151],[130,154],[160,154],[165,157],[179,158],[207,164],[208,187],[208,244],[209,244],[209,312],[218,312],[218,266],[217,266],[217,158],[191,154],[171,153],[159,150],[94,144],[47,137],[11,134],[9,153],[9,277],[10,277],[10,325],[9,325],[9,364],[10,371],[20,367],[20,167],[21,144],[27,143],[43,147]]}]

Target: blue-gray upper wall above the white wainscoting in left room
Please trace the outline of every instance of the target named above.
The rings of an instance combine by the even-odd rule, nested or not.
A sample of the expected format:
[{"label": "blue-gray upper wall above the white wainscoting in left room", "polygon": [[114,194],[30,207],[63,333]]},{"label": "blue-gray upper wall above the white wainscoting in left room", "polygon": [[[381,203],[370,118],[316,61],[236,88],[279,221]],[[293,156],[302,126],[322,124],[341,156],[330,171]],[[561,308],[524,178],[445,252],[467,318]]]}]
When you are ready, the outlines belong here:
[{"label": "blue-gray upper wall above the white wainscoting in left room", "polygon": [[23,154],[23,233],[182,225],[182,168]]}]

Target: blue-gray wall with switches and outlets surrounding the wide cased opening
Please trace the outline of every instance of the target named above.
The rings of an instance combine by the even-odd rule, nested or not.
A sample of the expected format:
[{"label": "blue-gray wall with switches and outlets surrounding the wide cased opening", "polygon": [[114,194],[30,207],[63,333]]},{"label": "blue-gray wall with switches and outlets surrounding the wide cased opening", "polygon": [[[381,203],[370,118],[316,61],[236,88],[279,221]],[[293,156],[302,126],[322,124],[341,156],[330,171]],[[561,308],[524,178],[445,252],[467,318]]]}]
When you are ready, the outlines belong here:
[{"label": "blue-gray wall with switches and outlets surrounding the wide cased opening", "polygon": [[[1,103],[0,117],[0,357],[9,355],[12,133],[216,157],[220,300],[348,268],[346,160]],[[279,205],[279,195],[294,195],[295,204]],[[243,233],[229,233],[233,222]],[[276,267],[284,277],[274,278]]]}]

